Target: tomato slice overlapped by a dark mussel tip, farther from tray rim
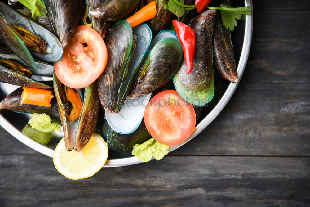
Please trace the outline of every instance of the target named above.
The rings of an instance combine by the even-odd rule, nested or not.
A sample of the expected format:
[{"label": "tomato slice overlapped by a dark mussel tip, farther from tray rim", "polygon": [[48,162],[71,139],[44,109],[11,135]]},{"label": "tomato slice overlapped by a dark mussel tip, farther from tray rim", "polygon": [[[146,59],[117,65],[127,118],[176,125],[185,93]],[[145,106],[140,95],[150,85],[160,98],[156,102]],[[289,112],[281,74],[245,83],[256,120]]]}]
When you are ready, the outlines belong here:
[{"label": "tomato slice overlapped by a dark mussel tip, farther from tray rim", "polygon": [[100,76],[107,61],[107,47],[100,34],[90,27],[78,26],[54,68],[57,78],[64,85],[85,88]]}]

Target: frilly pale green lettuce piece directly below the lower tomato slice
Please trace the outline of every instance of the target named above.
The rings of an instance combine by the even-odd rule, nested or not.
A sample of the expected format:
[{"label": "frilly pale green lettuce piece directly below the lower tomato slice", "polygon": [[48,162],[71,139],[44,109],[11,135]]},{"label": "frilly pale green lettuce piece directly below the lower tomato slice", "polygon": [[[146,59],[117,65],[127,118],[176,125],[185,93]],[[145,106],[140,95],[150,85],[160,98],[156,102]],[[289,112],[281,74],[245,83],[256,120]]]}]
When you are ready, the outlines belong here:
[{"label": "frilly pale green lettuce piece directly below the lower tomato slice", "polygon": [[136,156],[141,162],[148,162],[154,157],[156,160],[162,159],[169,152],[169,146],[157,142],[154,138],[142,144],[135,144],[131,154]]}]

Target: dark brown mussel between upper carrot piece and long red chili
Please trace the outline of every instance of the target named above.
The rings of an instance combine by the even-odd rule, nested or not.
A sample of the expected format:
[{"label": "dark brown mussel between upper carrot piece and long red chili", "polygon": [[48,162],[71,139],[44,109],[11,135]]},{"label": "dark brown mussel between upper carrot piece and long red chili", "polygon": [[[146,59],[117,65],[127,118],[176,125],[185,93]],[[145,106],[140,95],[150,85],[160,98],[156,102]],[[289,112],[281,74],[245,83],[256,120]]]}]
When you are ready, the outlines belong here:
[{"label": "dark brown mussel between upper carrot piece and long red chili", "polygon": [[153,35],[156,35],[162,30],[169,29],[173,14],[169,9],[164,9],[164,4],[167,4],[168,1],[169,0],[158,0],[156,3],[157,13],[150,24]]}]

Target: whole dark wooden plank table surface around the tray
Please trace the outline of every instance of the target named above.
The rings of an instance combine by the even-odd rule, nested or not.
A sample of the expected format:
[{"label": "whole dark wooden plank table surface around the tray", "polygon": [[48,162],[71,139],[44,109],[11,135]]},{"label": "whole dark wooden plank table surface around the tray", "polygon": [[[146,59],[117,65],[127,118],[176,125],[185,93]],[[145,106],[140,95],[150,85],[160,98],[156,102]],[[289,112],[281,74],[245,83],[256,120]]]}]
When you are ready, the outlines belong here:
[{"label": "whole dark wooden plank table surface around the tray", "polygon": [[0,128],[0,206],[309,206],[310,2],[254,0],[249,61],[200,135],[160,161],[72,181]]}]

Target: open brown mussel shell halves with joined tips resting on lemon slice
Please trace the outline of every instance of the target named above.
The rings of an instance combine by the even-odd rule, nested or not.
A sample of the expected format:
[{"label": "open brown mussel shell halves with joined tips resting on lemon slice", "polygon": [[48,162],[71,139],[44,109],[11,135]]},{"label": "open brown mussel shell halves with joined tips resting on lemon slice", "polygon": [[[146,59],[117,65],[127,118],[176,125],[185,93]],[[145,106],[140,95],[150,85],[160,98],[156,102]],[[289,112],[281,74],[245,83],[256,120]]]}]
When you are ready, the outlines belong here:
[{"label": "open brown mussel shell halves with joined tips resting on lemon slice", "polygon": [[80,116],[69,121],[65,115],[62,86],[54,73],[54,91],[57,100],[57,106],[59,110],[60,120],[64,131],[64,141],[67,151],[75,150],[81,151],[93,134],[99,113],[99,98],[97,94],[96,81],[87,86],[84,90],[84,101]]}]

